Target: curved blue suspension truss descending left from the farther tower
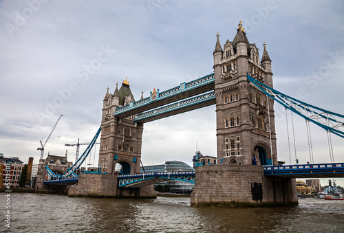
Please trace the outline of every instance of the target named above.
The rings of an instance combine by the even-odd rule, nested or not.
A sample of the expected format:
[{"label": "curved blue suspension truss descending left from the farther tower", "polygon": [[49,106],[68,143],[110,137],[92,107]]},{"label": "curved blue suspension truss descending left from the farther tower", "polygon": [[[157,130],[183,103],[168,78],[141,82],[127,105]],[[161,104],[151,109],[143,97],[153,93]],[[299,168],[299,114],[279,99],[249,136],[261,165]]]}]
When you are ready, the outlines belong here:
[{"label": "curved blue suspension truss descending left from the farther tower", "polygon": [[65,173],[63,173],[62,175],[58,175],[58,174],[54,173],[52,170],[50,170],[50,168],[48,166],[45,166],[45,168],[47,169],[47,173],[54,179],[67,179],[70,177],[74,177],[74,178],[78,177],[78,175],[76,175],[76,170],[78,170],[78,168],[80,168],[81,164],[83,164],[83,162],[85,161],[85,159],[87,158],[87,156],[91,152],[91,150],[94,146],[94,143],[96,142],[96,140],[100,134],[100,130],[101,130],[101,127],[99,127],[96,135],[94,135],[94,138],[92,139],[91,143],[87,146],[83,155],[81,155],[78,158],[78,160],[75,162],[75,164],[73,164],[73,166],[68,168]]}]

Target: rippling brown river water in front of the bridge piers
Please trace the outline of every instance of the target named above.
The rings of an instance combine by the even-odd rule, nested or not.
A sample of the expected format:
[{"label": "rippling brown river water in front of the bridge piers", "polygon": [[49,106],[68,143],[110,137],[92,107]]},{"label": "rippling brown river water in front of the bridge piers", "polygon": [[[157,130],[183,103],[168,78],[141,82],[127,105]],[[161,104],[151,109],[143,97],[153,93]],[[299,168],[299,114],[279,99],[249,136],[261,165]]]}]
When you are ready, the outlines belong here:
[{"label": "rippling brown river water in front of the bridge piers", "polygon": [[[0,232],[344,232],[344,201],[292,208],[193,208],[189,197],[92,199],[0,193]],[[8,209],[7,209],[8,210]]]}]

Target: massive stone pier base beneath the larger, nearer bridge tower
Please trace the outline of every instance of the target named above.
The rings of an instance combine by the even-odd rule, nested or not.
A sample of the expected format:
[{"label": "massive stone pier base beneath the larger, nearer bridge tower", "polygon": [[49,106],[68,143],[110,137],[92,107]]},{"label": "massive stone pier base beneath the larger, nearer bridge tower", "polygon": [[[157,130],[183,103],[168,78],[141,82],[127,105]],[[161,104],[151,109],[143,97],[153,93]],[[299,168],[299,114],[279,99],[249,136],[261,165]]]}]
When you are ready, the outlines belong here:
[{"label": "massive stone pier base beneath the larger, nearer bridge tower", "polygon": [[263,167],[209,165],[196,168],[191,206],[296,206],[294,179],[269,179]]}]

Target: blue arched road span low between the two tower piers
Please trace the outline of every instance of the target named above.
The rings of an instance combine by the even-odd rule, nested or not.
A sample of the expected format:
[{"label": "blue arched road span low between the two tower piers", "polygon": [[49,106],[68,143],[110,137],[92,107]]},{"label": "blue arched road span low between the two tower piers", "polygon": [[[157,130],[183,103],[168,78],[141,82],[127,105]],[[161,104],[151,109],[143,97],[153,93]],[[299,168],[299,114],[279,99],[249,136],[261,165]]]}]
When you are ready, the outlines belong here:
[{"label": "blue arched road span low between the two tower piers", "polygon": [[138,188],[154,184],[158,181],[175,179],[195,184],[195,171],[192,172],[161,172],[161,173],[140,173],[132,175],[118,175],[119,188]]}]

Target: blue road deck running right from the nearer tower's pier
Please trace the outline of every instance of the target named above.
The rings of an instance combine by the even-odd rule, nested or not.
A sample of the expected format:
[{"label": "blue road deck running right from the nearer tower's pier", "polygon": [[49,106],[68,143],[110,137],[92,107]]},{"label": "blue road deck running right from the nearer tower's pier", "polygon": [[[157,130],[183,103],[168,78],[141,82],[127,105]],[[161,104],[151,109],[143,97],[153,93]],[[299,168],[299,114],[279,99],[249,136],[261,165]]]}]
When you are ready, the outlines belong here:
[{"label": "blue road deck running right from the nearer tower's pier", "polygon": [[264,166],[264,175],[290,178],[344,177],[344,164],[336,163]]}]

